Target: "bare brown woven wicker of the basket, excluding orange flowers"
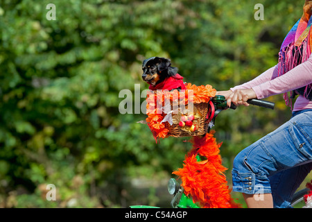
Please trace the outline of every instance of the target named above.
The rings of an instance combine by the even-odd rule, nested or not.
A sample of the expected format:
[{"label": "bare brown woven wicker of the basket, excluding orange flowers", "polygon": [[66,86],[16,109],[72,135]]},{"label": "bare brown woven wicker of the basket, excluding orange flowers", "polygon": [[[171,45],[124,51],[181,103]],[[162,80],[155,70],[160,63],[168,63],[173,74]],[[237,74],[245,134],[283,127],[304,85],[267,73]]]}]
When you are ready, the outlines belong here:
[{"label": "bare brown woven wicker of the basket, excluding orange flowers", "polygon": [[198,136],[204,135],[207,133],[209,121],[207,121],[207,113],[209,112],[209,103],[195,103],[194,106],[200,112],[201,117],[198,119],[198,128],[190,133],[185,130],[181,129],[179,124],[172,124],[170,125],[166,122],[166,128],[169,129],[168,136],[171,137],[191,137],[191,136]]}]

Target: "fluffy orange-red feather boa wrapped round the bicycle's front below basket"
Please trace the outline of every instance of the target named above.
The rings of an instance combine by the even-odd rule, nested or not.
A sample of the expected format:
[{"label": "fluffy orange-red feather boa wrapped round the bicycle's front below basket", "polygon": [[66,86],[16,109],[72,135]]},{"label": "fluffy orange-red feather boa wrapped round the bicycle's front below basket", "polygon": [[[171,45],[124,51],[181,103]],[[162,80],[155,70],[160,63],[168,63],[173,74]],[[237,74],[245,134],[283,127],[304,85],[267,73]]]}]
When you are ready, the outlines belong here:
[{"label": "fluffy orange-red feather boa wrapped round the bicycle's front below basket", "polygon": [[[179,176],[184,187],[184,194],[191,196],[194,203],[205,208],[237,208],[229,194],[224,172],[227,170],[221,164],[220,146],[216,143],[213,133],[205,137],[192,137],[193,148],[187,154],[183,168],[174,171]],[[202,159],[198,162],[196,156]]]}]

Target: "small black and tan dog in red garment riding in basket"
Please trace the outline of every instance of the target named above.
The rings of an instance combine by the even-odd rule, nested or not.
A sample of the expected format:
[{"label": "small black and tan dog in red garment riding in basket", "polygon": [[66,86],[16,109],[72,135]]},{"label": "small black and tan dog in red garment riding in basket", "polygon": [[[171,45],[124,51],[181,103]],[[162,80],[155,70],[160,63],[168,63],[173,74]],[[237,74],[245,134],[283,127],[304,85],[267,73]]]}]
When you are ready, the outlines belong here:
[{"label": "small black and tan dog in red garment riding in basket", "polygon": [[177,74],[177,68],[171,67],[171,60],[168,58],[152,57],[144,60],[142,65],[142,78],[150,85],[150,90],[186,89],[183,77]]}]

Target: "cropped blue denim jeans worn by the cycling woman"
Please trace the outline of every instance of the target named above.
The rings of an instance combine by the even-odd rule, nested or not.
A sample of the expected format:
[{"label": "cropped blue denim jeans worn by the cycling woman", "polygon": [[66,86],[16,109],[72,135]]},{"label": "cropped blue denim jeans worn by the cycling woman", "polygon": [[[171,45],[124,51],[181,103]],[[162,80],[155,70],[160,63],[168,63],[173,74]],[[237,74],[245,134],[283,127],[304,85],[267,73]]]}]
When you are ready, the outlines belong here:
[{"label": "cropped blue denim jeans worn by the cycling woman", "polygon": [[293,194],[312,169],[312,110],[293,112],[277,130],[243,149],[233,165],[233,191],[272,193],[275,207],[291,207]]}]

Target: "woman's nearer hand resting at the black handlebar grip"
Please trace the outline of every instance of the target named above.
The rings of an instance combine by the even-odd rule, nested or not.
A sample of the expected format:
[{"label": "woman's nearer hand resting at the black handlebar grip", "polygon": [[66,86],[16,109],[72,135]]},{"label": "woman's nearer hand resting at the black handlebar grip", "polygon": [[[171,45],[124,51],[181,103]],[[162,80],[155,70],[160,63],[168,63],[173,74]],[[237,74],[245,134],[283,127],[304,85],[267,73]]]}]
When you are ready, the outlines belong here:
[{"label": "woman's nearer hand resting at the black handlebar grip", "polygon": [[227,105],[231,106],[231,103],[234,103],[234,105],[248,106],[250,105],[247,103],[248,99],[257,99],[257,95],[254,92],[254,89],[236,89],[227,97]]}]

